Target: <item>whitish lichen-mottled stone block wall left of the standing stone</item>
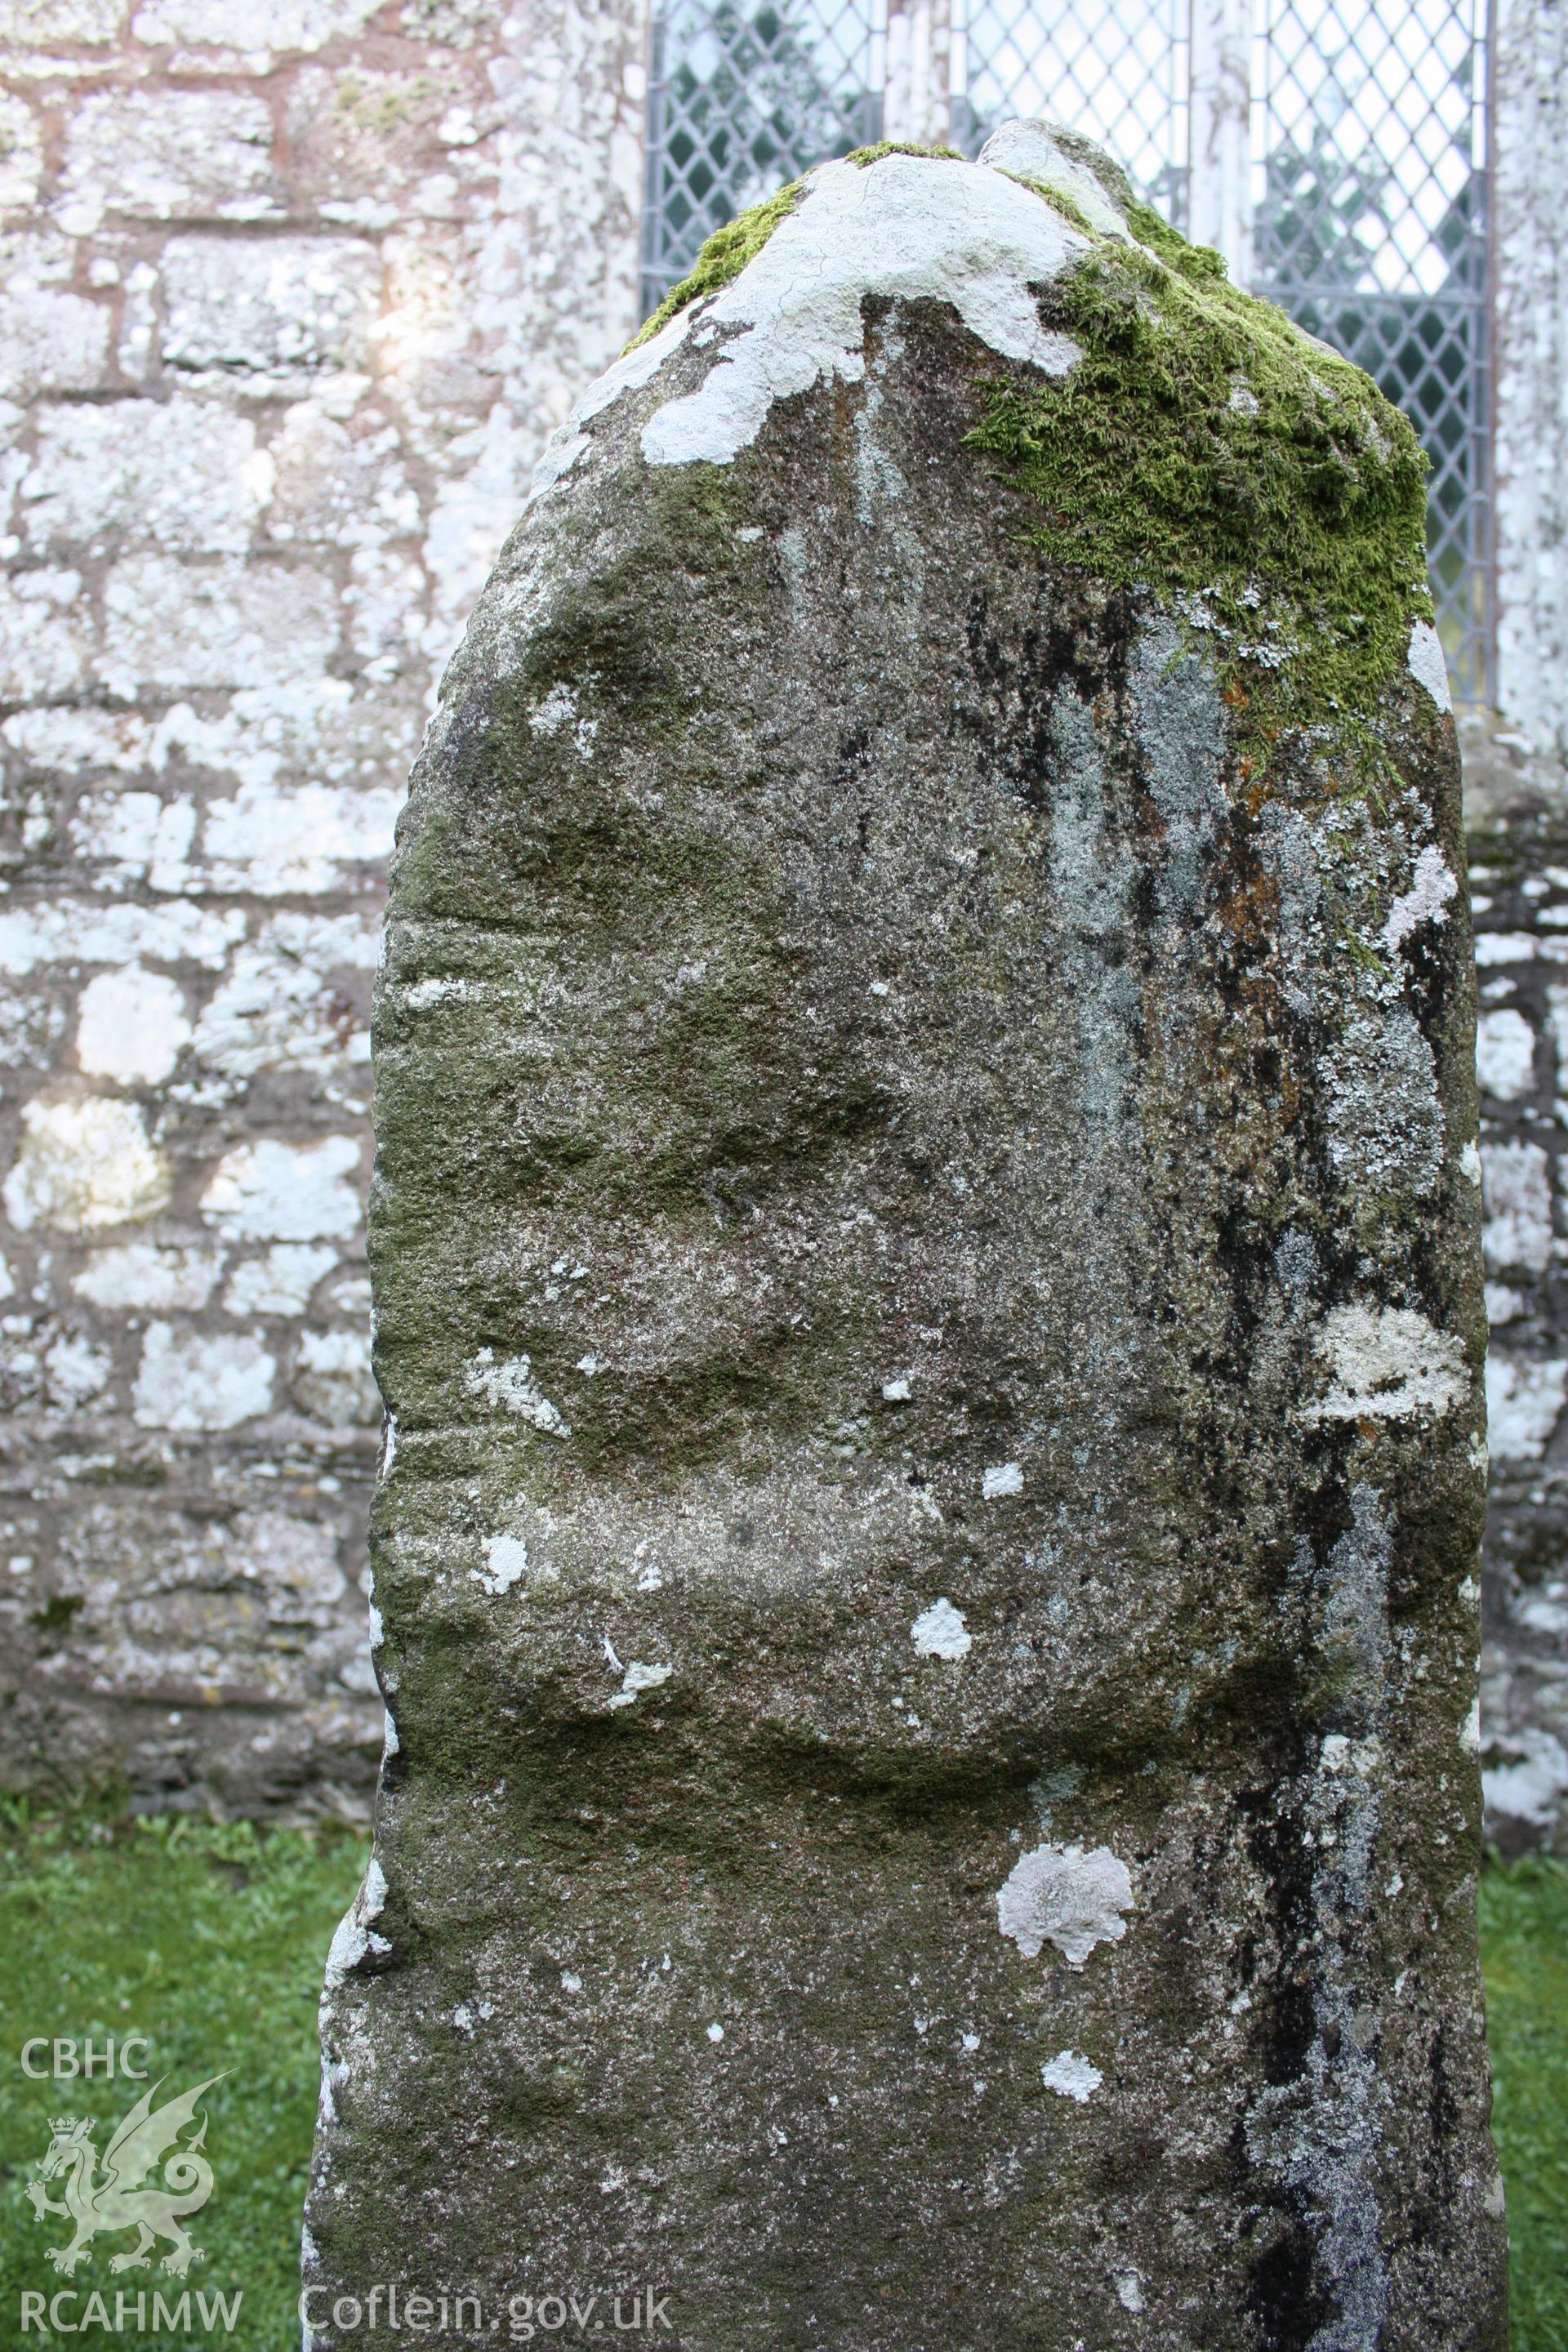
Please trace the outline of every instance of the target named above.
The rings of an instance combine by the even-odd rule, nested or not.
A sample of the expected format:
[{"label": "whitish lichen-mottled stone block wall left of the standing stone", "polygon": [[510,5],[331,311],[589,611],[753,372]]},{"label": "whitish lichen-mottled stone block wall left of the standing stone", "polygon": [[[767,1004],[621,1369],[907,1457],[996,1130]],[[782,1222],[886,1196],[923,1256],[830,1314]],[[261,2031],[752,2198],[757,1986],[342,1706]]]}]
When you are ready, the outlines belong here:
[{"label": "whitish lichen-mottled stone block wall left of the standing stone", "polygon": [[378,889],[635,325],[642,0],[0,42],[0,1773],[362,1806]]}]

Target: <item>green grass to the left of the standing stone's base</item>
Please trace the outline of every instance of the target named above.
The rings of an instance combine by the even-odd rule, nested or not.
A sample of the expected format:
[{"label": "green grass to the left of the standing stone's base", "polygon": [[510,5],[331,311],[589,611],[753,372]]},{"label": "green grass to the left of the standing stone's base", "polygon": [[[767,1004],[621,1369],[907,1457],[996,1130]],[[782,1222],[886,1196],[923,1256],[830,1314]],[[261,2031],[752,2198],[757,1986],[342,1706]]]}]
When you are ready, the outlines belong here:
[{"label": "green grass to the left of the standing stone's base", "polygon": [[[350,1830],[275,1830],[249,1823],[106,1820],[92,1816],[28,1818],[7,1809],[0,1837],[0,1950],[7,2063],[0,2065],[0,2343],[66,2343],[52,2328],[19,2328],[21,2293],[66,2286],[82,2300],[61,2319],[87,2321],[87,2293],[174,2296],[193,2291],[186,2328],[115,2333],[87,2328],[89,2343],[136,2343],[143,2352],[299,2352],[299,2216],[315,2126],[315,2002],[331,1931],[364,1872],[367,1842]],[[63,2246],[68,2223],[38,2220],[26,2180],[49,2145],[52,2114],[92,2114],[118,2124],[141,2096],[136,2082],[31,2082],[19,2065],[33,2034],[146,2034],[150,2082],[169,2077],[174,2096],[223,2070],[207,2107],[207,2154],[214,2192],[190,2230],[207,2260],[174,2281],[162,2270],[110,2279],[106,2253],[127,2251],[120,2234],[94,2249],[75,2279],[56,2279],[47,2246]],[[33,2063],[49,2063],[33,2053]],[[186,2133],[190,2138],[190,2133]],[[99,2150],[108,2129],[99,2129]],[[49,2185],[59,2197],[59,2183]],[[240,2296],[233,2331],[221,2319],[200,2326],[195,2296]],[[209,2305],[212,2310],[212,2305]]]}]

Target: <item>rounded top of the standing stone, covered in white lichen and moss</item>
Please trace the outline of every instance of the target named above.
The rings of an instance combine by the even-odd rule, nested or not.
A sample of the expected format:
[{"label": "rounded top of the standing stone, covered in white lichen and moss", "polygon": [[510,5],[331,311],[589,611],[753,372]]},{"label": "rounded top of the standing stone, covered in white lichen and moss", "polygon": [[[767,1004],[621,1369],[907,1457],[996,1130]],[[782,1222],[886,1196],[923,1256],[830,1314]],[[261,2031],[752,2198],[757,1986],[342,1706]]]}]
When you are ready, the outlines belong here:
[{"label": "rounded top of the standing stone, covered in white lichen and moss", "polygon": [[[936,313],[976,346],[940,360],[945,405],[903,358]],[[1253,710],[1251,757],[1281,727],[1342,734],[1413,647],[1443,703],[1441,661],[1420,668],[1436,640],[1408,419],[1058,122],[1004,122],[978,162],[863,148],[717,230],[578,400],[529,503],[592,480],[599,447],[630,459],[628,485],[733,466],[778,405],[872,367],[926,405],[929,463],[985,468],[1016,503],[1013,546],[1208,635]]]}]

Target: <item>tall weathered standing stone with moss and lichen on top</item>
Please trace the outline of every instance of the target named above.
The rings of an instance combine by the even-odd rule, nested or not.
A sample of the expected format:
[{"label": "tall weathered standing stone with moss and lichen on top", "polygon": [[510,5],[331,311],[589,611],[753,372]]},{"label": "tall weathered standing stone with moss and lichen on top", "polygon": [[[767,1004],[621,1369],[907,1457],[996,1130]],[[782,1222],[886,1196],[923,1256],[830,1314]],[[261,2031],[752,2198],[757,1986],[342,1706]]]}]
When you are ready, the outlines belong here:
[{"label": "tall weathered standing stone with moss and lichen on top", "polygon": [[1502,2347],[1410,428],[1044,125],[665,308],[402,821],[315,2343]]}]

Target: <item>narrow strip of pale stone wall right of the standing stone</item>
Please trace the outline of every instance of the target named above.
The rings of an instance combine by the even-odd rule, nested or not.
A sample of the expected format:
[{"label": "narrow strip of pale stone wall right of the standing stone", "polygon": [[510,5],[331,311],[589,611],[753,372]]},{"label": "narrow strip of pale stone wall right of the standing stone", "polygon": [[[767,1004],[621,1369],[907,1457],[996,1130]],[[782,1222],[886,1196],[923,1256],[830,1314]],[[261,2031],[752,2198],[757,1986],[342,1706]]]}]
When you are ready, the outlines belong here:
[{"label": "narrow strip of pale stone wall right of the standing stone", "polygon": [[1568,1853],[1568,9],[1495,14],[1497,696],[1472,729],[1493,1317],[1488,1828]]}]

